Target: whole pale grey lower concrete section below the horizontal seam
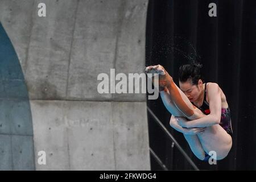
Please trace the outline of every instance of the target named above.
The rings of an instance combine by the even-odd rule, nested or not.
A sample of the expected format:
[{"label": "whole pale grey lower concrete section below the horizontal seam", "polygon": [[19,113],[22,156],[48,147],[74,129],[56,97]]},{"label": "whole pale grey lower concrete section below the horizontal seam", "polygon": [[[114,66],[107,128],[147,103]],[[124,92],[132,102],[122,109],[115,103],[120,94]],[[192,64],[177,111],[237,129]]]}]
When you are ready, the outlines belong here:
[{"label": "whole pale grey lower concrete section below the horizontal seam", "polygon": [[31,101],[35,151],[47,154],[47,164],[36,168],[150,169],[145,108],[142,102]]}]

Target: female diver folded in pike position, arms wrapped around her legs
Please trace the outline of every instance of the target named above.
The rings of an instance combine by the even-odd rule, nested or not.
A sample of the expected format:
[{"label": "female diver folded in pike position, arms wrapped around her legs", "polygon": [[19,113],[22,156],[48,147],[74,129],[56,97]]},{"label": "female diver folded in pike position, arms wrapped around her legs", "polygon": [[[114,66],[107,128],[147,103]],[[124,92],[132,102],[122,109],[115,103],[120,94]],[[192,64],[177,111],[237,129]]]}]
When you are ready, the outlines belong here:
[{"label": "female diver folded in pike position, arms wrapped around her legs", "polygon": [[146,73],[158,73],[160,96],[172,114],[170,125],[184,134],[193,154],[208,161],[209,151],[215,151],[216,159],[221,160],[232,147],[230,109],[218,84],[203,83],[200,67],[180,67],[180,88],[162,65],[147,67]]}]

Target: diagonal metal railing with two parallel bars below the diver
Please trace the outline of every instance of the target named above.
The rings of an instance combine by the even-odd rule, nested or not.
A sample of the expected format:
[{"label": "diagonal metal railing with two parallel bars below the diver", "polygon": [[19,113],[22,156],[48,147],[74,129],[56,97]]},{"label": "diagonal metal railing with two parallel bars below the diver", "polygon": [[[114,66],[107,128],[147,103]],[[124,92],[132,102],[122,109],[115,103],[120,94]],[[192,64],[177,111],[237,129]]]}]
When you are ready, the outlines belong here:
[{"label": "diagonal metal railing with two parallel bars below the diver", "polygon": [[[150,113],[150,115],[154,118],[154,121],[156,123],[158,123],[158,125],[161,127],[161,129],[164,131],[165,134],[167,134],[167,136],[172,140],[172,142],[175,143],[176,147],[178,148],[178,150],[181,152],[181,154],[183,154],[183,156],[185,157],[185,159],[188,160],[188,163],[191,164],[191,166],[199,171],[199,168],[196,166],[196,164],[191,160],[191,158],[189,158],[189,156],[187,155],[187,153],[183,150],[183,148],[180,146],[180,144],[176,141],[176,139],[174,138],[174,136],[172,136],[172,134],[166,129],[166,127],[163,125],[162,122],[160,122],[160,120],[158,119],[158,117],[156,117],[156,115],[152,112],[152,110],[147,106],[147,110],[148,113]],[[160,166],[164,169],[164,170],[168,170],[166,168],[166,166],[162,163],[162,161],[158,158],[158,156],[155,154],[155,152],[150,148],[150,152],[152,154],[152,156],[154,156],[154,158],[156,159],[156,161],[160,164]]]}]

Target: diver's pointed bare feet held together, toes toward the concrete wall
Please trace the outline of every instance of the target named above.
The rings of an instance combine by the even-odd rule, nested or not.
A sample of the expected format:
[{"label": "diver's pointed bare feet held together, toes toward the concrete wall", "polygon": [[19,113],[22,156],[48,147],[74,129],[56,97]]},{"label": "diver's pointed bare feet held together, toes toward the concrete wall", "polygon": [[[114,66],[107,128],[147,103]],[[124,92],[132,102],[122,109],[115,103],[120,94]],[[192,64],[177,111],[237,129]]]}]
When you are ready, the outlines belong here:
[{"label": "diver's pointed bare feet held together, toes toward the concrete wall", "polygon": [[170,86],[172,77],[168,74],[168,72],[164,69],[162,65],[158,64],[158,65],[146,67],[145,72],[152,73],[152,74],[154,73],[159,74],[159,90],[160,90],[160,87],[164,88],[166,86],[167,87]]}]

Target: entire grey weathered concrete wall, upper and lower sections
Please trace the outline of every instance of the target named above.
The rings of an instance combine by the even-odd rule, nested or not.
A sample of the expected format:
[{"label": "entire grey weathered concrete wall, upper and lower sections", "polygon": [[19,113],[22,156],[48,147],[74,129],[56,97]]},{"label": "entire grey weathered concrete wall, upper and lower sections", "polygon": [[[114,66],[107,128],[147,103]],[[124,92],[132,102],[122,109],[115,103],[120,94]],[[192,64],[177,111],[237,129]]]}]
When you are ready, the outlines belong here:
[{"label": "entire grey weathered concrete wall, upper and lower sections", "polygon": [[146,10],[147,0],[0,1],[27,84],[36,169],[150,169],[145,94],[97,92],[110,68],[143,72]]}]

